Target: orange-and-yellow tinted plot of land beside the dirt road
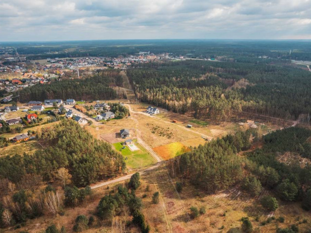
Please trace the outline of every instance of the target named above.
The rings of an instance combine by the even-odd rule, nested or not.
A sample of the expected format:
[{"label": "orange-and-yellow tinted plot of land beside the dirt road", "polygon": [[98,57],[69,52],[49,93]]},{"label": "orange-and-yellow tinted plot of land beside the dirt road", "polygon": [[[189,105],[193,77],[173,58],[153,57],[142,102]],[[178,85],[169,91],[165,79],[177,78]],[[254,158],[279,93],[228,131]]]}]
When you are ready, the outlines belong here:
[{"label": "orange-and-yellow tinted plot of land beside the dirt road", "polygon": [[153,148],[153,150],[162,157],[164,160],[171,159],[175,156],[181,155],[190,151],[188,147],[180,142],[173,142],[164,146]]}]

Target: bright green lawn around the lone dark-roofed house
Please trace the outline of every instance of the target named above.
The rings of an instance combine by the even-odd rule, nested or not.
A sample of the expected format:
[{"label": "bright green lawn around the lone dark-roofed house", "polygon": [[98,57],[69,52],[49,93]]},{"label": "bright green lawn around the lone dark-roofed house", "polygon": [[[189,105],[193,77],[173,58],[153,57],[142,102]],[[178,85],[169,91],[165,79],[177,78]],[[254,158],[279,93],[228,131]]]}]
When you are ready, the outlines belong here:
[{"label": "bright green lawn around the lone dark-roofed house", "polygon": [[135,143],[140,150],[131,151],[128,146],[122,149],[123,145],[120,142],[113,144],[116,150],[120,151],[123,157],[127,157],[125,160],[126,166],[128,168],[139,168],[155,163],[155,159],[138,143]]}]

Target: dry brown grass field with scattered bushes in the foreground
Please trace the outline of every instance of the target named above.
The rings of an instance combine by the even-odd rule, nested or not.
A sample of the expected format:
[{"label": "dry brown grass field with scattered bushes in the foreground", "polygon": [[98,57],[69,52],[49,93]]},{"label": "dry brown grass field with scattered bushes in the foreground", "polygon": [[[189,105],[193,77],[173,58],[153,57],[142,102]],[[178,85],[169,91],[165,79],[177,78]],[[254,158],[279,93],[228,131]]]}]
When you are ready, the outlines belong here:
[{"label": "dry brown grass field with scattered bushes in the foreground", "polygon": [[[311,213],[301,209],[300,203],[283,203],[273,215],[278,218],[283,216],[284,223],[271,220],[270,223],[262,224],[271,213],[264,211],[257,198],[248,197],[238,187],[233,187],[223,192],[207,195],[204,190],[191,185],[183,180],[183,190],[177,194],[174,185],[177,181],[171,181],[165,166],[149,171],[141,177],[141,186],[136,195],[142,198],[143,210],[146,221],[151,227],[151,233],[226,233],[231,228],[241,227],[242,217],[248,216],[252,222],[254,232],[275,233],[277,227],[286,228],[292,224],[299,226],[299,232],[304,232],[311,222]],[[9,229],[5,232],[19,233],[42,233],[49,225],[55,224],[58,228],[65,226],[67,233],[73,233],[74,219],[78,215],[87,217],[94,215],[99,200],[106,194],[115,193],[118,185],[125,185],[128,181],[93,190],[89,200],[75,208],[66,208],[64,216],[42,216],[27,221],[20,229]],[[146,190],[148,186],[148,190]],[[152,203],[152,195],[160,193],[159,203]],[[267,193],[267,191],[264,191]],[[205,207],[206,213],[195,219],[190,218],[190,207],[198,209]],[[96,226],[84,231],[85,233],[117,233],[121,232],[116,227],[125,226],[126,233],[139,233],[140,230],[131,226],[126,227],[126,221],[131,216],[116,216],[114,224],[96,221]],[[307,219],[307,223],[303,221]],[[123,231],[124,233],[124,231]]]}]

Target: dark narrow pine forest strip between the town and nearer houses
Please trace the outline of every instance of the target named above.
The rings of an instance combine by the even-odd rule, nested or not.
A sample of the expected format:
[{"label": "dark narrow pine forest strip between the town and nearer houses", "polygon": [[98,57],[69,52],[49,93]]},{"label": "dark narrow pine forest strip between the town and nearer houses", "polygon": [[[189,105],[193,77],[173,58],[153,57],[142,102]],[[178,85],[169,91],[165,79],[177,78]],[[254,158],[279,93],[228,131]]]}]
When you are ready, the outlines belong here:
[{"label": "dark narrow pine forest strip between the town and nearer houses", "polygon": [[50,84],[36,84],[16,92],[16,100],[76,99],[76,100],[113,100],[126,98],[125,92],[114,90],[111,84],[122,83],[118,70],[96,73],[91,78],[52,81]]}]

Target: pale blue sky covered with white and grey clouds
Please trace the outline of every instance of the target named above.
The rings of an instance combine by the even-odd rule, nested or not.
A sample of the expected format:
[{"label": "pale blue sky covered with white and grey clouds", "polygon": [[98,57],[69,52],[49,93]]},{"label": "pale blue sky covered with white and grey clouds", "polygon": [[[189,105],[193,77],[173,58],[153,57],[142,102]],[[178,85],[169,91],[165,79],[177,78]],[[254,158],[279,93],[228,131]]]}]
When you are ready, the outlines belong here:
[{"label": "pale blue sky covered with white and grey clouds", "polygon": [[311,39],[311,0],[0,0],[0,41]]}]

